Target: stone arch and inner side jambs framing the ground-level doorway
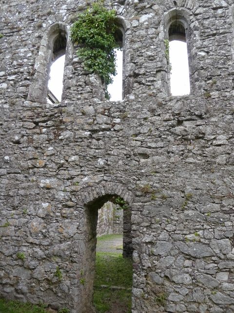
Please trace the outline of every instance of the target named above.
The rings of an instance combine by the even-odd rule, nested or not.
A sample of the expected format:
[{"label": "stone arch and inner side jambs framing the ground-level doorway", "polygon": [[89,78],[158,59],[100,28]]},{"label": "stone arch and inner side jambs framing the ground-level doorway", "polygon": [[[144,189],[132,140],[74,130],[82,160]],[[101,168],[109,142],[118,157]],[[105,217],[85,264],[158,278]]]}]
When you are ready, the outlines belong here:
[{"label": "stone arch and inner side jambs framing the ground-level doorway", "polygon": [[[97,186],[81,190],[78,195],[78,205],[84,209],[84,255],[83,255],[83,279],[85,281],[80,307],[82,313],[93,312],[93,283],[95,276],[95,258],[97,244],[98,209],[107,201],[121,198],[126,204],[123,222],[123,256],[132,257],[132,234],[131,234],[131,204],[133,194],[125,186],[119,183],[102,182]],[[80,306],[80,303],[79,303]]]}]

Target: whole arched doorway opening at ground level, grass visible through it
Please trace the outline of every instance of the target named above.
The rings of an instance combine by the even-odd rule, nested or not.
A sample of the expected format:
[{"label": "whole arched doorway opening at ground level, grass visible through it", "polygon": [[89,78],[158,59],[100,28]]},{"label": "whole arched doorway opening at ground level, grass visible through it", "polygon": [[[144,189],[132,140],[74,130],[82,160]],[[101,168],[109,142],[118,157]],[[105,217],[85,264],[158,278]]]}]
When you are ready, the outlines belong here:
[{"label": "whole arched doorway opening at ground level, grass visible through it", "polygon": [[[85,257],[89,264],[86,267],[88,278],[85,279],[90,288],[87,291],[91,294],[90,301],[97,313],[109,312],[116,306],[119,313],[131,313],[131,208],[117,195],[106,195],[89,204],[86,213],[88,233]],[[114,231],[113,222],[121,214],[121,232],[119,229]]]}]

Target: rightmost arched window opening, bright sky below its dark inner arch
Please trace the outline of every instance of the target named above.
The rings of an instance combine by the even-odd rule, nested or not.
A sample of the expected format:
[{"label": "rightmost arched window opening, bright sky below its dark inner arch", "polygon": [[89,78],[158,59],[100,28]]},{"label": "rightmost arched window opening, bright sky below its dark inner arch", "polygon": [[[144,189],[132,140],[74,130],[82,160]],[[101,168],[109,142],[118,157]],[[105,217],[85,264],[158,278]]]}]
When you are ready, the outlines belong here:
[{"label": "rightmost arched window opening, bright sky below its dark inner arch", "polygon": [[172,22],[168,30],[168,36],[171,65],[171,94],[174,96],[190,94],[186,31],[182,22]]}]

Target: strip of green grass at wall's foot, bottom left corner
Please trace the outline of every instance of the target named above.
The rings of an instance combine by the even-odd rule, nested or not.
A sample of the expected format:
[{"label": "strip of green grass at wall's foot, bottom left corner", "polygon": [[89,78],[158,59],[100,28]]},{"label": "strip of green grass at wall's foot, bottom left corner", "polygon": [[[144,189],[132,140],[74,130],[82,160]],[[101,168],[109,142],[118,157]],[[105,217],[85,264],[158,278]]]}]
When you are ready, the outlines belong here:
[{"label": "strip of green grass at wall's foot, bottom left corner", "polygon": [[43,305],[0,299],[0,313],[48,313]]}]

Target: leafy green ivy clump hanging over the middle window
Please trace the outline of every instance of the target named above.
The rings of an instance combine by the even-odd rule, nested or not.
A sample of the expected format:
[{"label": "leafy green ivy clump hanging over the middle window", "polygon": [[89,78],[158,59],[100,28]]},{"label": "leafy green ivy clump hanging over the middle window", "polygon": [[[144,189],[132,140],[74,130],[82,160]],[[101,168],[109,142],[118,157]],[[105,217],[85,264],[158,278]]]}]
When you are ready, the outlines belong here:
[{"label": "leafy green ivy clump hanging over the middle window", "polygon": [[71,27],[71,39],[75,44],[82,44],[77,50],[83,60],[84,68],[97,73],[105,83],[105,97],[110,99],[107,86],[113,82],[111,75],[116,75],[116,11],[108,11],[102,0],[94,2]]}]

